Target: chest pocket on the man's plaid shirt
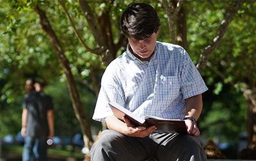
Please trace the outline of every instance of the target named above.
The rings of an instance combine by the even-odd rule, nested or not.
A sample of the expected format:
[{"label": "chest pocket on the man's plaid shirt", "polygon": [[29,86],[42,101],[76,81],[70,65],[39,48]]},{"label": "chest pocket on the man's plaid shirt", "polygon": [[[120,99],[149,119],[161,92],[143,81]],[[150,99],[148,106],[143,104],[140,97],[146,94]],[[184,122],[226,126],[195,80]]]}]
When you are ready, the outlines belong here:
[{"label": "chest pocket on the man's plaid shirt", "polygon": [[177,76],[158,76],[156,97],[161,101],[173,101],[180,94],[180,82]]}]

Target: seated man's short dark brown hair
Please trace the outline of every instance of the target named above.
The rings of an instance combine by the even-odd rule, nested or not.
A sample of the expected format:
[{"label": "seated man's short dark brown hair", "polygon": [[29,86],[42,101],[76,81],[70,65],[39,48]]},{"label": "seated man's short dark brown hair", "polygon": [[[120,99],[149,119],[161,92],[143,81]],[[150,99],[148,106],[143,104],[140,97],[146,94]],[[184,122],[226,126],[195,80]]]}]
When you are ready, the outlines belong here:
[{"label": "seated man's short dark brown hair", "polygon": [[127,38],[142,40],[158,31],[160,20],[156,10],[149,4],[133,3],[122,14],[121,26]]}]

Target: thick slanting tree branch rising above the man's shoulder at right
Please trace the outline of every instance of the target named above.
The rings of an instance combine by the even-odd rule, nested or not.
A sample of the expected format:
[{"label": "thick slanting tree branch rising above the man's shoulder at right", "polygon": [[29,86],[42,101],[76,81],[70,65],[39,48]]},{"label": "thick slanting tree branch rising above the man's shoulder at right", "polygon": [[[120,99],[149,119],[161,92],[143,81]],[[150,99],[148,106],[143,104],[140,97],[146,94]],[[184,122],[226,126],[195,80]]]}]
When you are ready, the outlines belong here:
[{"label": "thick slanting tree branch rising above the man's shoulder at right", "polygon": [[218,48],[220,45],[220,42],[227,31],[228,25],[232,21],[235,13],[240,8],[240,6],[244,3],[245,0],[234,0],[232,1],[232,4],[230,4],[228,10],[226,11],[224,15],[224,19],[221,22],[221,25],[217,31],[216,36],[214,37],[212,43],[208,45],[207,47],[203,48],[201,50],[200,59],[198,60],[198,64],[196,65],[199,73],[202,73],[204,71],[204,68],[207,64],[207,61],[211,57],[211,54]]}]

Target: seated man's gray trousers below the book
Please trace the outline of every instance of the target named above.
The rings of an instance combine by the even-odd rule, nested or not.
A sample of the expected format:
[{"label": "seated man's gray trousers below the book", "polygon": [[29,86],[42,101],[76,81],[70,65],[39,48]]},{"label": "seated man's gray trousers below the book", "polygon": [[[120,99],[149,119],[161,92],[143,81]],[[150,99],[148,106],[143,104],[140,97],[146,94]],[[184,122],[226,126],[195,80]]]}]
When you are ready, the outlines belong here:
[{"label": "seated man's gray trousers below the book", "polygon": [[90,151],[91,161],[205,161],[199,137],[152,133],[148,137],[129,137],[115,130],[104,130]]}]

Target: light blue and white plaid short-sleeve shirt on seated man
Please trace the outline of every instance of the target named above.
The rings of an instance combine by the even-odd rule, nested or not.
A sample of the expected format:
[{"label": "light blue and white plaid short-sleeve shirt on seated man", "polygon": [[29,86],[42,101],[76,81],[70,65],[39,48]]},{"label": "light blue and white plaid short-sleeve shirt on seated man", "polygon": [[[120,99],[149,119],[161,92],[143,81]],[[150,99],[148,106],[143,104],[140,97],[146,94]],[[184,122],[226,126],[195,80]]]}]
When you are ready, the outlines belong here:
[{"label": "light blue and white plaid short-sleeve shirt on seated man", "polygon": [[115,101],[136,115],[183,119],[186,99],[207,90],[204,80],[184,48],[156,43],[149,62],[126,52],[106,68],[93,114],[104,122],[113,115],[108,102]]}]

